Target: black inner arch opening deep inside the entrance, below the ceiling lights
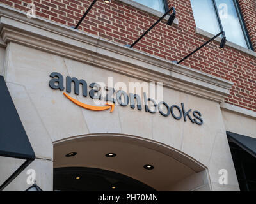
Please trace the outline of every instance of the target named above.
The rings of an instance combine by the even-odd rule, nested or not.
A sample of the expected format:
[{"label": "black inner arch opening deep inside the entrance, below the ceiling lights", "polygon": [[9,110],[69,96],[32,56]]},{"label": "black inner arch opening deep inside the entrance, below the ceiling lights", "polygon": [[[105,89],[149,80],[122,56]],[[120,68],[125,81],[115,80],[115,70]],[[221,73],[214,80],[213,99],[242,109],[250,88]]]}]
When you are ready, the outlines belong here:
[{"label": "black inner arch opening deep inside the entrance, below the ceiling lights", "polygon": [[156,191],[113,171],[87,167],[54,169],[54,191]]}]

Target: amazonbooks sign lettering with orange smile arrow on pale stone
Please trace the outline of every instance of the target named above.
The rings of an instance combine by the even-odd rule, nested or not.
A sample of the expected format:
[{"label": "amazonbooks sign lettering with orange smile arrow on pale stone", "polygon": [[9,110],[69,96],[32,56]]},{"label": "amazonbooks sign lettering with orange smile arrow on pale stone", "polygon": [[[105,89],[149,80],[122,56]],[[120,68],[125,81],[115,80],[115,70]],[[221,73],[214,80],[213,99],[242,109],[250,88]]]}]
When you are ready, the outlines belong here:
[{"label": "amazonbooks sign lettering with orange smile arrow on pale stone", "polygon": [[[60,73],[52,72],[50,77],[52,77],[52,79],[49,81],[49,85],[52,89],[60,89],[61,91],[65,89],[64,78]],[[82,85],[83,96],[84,97],[88,96],[87,82],[85,80],[78,80],[76,77],[69,77],[69,76],[66,77],[66,92],[69,92],[69,93],[71,92],[72,83],[74,83],[75,94],[79,95],[80,85]],[[137,109],[142,110],[141,96],[138,96],[138,94],[132,94],[132,93],[127,94],[125,91],[122,91],[122,90],[116,91],[113,87],[100,87],[100,85],[97,83],[91,83],[89,87],[91,88],[89,91],[90,98],[106,101],[106,104],[105,104],[106,106],[87,105],[85,103],[77,101],[76,99],[72,98],[65,92],[63,94],[76,105],[86,108],[88,110],[102,111],[102,110],[110,109],[110,112],[113,112],[116,103],[118,103],[120,106],[127,106],[130,104],[131,108],[134,109],[135,101],[137,104]],[[106,90],[105,97],[99,94],[101,89]],[[202,125],[204,123],[204,120],[202,119],[202,114],[197,110],[193,112],[191,109],[186,110],[184,103],[180,103],[181,106],[178,106],[178,105],[169,106],[164,101],[156,103],[154,99],[147,98],[147,94],[145,92],[143,92],[143,100],[145,105],[145,112],[149,112],[149,113],[159,112],[164,117],[168,117],[169,115],[172,115],[172,117],[177,120],[180,120],[183,117],[185,122],[187,120],[190,120],[192,123],[195,123],[198,125]],[[148,105],[149,103],[152,103],[152,106],[149,106]]]}]

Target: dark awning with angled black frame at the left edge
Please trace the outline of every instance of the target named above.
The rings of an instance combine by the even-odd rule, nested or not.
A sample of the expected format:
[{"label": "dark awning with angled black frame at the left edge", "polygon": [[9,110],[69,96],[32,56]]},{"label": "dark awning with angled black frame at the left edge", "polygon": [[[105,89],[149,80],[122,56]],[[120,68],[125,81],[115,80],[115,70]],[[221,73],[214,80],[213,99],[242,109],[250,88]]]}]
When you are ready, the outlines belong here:
[{"label": "dark awning with angled black frame at the left edge", "polygon": [[22,126],[3,76],[0,76],[0,156],[26,159],[24,164],[0,186],[0,191],[35,159],[35,152]]}]

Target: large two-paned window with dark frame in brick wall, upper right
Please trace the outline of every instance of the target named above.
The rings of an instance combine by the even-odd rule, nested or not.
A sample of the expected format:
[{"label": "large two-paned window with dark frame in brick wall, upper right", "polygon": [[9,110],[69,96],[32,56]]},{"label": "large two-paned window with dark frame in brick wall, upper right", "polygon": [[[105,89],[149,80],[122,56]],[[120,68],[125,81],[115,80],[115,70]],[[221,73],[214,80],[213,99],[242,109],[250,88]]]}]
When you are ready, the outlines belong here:
[{"label": "large two-paned window with dark frame in brick wall, upper right", "polygon": [[250,40],[246,35],[236,0],[191,0],[191,6],[196,27],[212,34],[218,34],[222,25],[228,41],[250,48]]}]

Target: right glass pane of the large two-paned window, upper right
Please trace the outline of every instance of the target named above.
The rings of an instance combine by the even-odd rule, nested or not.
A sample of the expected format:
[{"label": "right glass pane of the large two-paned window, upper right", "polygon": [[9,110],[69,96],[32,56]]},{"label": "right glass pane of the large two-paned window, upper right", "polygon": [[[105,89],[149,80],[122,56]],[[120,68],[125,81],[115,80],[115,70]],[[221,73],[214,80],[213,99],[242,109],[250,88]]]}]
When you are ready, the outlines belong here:
[{"label": "right glass pane of the large two-paned window, upper right", "polygon": [[216,0],[216,4],[227,40],[248,48],[233,0]]}]

